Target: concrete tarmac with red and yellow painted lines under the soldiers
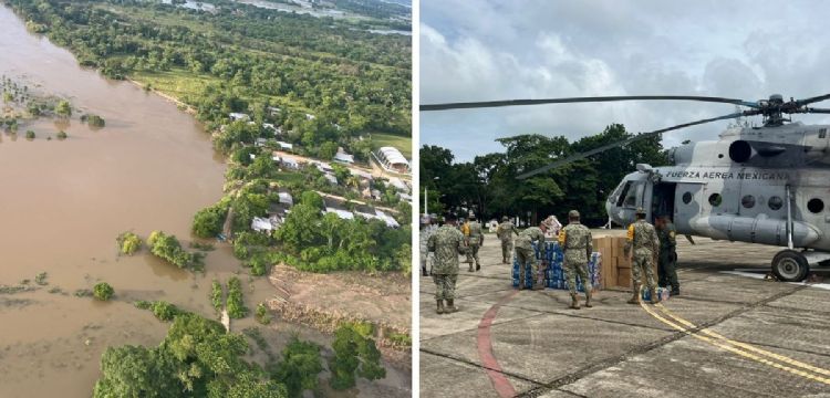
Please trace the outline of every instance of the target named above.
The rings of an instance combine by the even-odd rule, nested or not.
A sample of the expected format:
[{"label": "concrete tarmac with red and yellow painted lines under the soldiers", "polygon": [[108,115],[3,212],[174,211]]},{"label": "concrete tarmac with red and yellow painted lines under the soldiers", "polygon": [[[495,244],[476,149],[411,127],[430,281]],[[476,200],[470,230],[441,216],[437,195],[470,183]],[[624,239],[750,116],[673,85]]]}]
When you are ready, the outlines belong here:
[{"label": "concrete tarmac with red and yellow painted lines under the soldiers", "polygon": [[677,242],[682,295],[639,306],[608,290],[574,311],[567,291],[512,289],[487,234],[481,271],[461,263],[459,312],[436,314],[421,279],[421,396],[830,397],[828,285],[762,280],[779,248]]}]

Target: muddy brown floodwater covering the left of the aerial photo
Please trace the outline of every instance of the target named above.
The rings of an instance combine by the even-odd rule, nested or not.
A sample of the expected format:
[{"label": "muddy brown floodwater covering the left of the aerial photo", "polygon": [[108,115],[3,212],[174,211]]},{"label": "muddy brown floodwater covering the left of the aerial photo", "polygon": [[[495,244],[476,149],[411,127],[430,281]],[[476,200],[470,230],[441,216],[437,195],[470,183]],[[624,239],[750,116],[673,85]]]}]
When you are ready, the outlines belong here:
[{"label": "muddy brown floodwater covering the left of the aerial photo", "polygon": [[[0,294],[0,397],[89,397],[107,346],[155,346],[166,334],[168,325],[135,308],[135,300],[166,300],[212,316],[210,281],[240,270],[224,245],[209,252],[205,274],[193,274],[146,250],[120,256],[115,244],[122,231],[146,237],[164,230],[187,245],[194,212],[222,196],[225,165],[191,116],[134,84],[81,69],[71,53],[27,32],[1,6],[0,54],[0,74],[106,121],[93,130],[75,113],[69,125],[27,122],[17,139],[0,133],[0,285],[49,274],[49,285],[37,291]],[[27,129],[35,132],[34,140],[23,138]],[[45,139],[59,129],[66,140]],[[271,295],[264,277],[240,277],[249,308]],[[98,281],[115,289],[112,302],[72,294]],[[50,293],[52,287],[64,293]],[[251,324],[249,317],[234,326]],[[330,343],[301,325],[269,333],[279,334],[276,342],[299,333]],[[408,383],[391,368],[383,381]]]}]

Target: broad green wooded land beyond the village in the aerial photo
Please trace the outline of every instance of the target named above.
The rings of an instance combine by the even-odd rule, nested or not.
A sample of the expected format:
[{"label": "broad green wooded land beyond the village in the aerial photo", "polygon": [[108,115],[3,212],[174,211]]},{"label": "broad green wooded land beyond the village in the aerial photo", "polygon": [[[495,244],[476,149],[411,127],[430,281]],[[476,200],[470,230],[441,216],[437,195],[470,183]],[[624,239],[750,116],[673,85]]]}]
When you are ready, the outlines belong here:
[{"label": "broad green wooded land beyond the village in the aerial photo", "polygon": [[359,154],[371,143],[356,138],[371,132],[411,135],[409,36],[230,1],[215,13],[144,1],[9,3],[83,65],[166,91],[211,129],[247,113],[255,136],[273,136],[263,122],[282,125],[281,139],[307,155],[323,144]]}]

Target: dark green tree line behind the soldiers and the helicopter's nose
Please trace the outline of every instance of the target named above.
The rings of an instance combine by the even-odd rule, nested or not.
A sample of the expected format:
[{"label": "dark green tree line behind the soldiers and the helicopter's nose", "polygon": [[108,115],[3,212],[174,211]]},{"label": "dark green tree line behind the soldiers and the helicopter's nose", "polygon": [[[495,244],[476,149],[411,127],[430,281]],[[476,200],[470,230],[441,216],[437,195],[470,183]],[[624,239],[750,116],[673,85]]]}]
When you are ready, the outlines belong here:
[{"label": "dark green tree line behind the soldiers and the helicopter's nose", "polygon": [[506,149],[502,154],[481,155],[460,164],[453,164],[448,149],[425,145],[421,148],[421,184],[429,189],[428,208],[435,212],[455,211],[467,203],[485,218],[525,217],[531,211],[535,217],[556,214],[567,220],[568,210],[579,209],[583,220],[602,224],[608,220],[604,202],[623,176],[639,163],[667,164],[661,137],[611,149],[526,180],[516,176],[546,166],[553,158],[631,136],[619,124],[574,143],[564,137],[520,135],[498,139]]}]

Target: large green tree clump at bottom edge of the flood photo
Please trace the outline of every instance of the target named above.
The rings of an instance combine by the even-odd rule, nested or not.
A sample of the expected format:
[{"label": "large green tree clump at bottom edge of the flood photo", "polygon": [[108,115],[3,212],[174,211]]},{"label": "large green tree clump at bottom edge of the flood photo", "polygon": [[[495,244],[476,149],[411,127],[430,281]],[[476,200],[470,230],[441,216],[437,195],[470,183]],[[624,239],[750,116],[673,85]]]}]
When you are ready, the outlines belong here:
[{"label": "large green tree clump at bottom edge of the flood photo", "polygon": [[248,342],[215,321],[178,314],[158,347],[110,347],[94,397],[287,397],[283,385],[243,359]]}]

